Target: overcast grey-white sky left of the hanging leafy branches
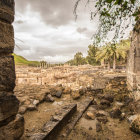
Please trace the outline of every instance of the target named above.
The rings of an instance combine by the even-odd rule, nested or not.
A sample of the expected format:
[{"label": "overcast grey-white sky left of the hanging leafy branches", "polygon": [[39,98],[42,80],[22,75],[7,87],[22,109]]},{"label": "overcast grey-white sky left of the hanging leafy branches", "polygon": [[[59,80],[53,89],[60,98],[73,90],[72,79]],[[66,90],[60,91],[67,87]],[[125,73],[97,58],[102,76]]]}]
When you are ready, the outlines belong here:
[{"label": "overcast grey-white sky left of the hanging leafy branches", "polygon": [[97,22],[90,21],[81,3],[78,19],[75,0],[15,0],[15,53],[29,60],[65,62],[81,51],[87,54]]}]

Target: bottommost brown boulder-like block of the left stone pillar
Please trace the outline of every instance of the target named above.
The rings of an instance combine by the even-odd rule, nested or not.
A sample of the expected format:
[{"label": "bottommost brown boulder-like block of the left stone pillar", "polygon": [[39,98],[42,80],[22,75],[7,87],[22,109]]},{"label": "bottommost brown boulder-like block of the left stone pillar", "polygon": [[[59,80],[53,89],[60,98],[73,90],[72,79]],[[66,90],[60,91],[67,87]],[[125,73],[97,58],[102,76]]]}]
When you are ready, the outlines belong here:
[{"label": "bottommost brown boulder-like block of the left stone pillar", "polygon": [[0,140],[19,140],[24,132],[24,118],[17,115],[7,126],[0,128]]}]

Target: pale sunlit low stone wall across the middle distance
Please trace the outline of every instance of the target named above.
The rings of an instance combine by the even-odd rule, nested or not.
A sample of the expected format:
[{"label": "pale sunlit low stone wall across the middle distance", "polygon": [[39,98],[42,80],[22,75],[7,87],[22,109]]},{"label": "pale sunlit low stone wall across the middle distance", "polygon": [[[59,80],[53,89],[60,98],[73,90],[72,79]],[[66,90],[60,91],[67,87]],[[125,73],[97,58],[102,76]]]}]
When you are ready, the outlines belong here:
[{"label": "pale sunlit low stone wall across the middle distance", "polygon": [[[79,84],[79,81],[90,81],[85,78],[88,72],[93,73],[95,68],[87,67],[53,67],[48,69],[33,68],[33,67],[18,67],[16,68],[16,85],[51,85],[51,84]],[[79,75],[81,75],[79,77]],[[84,78],[84,79],[82,79]],[[87,82],[88,82],[87,81]]]}]

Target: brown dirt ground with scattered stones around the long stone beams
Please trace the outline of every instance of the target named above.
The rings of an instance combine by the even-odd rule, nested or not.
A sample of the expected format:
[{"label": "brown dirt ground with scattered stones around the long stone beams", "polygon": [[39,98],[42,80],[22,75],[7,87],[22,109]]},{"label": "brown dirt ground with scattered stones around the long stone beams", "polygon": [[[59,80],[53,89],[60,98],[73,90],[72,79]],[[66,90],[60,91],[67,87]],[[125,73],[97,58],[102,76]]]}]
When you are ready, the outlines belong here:
[{"label": "brown dirt ground with scattered stones around the long stone beams", "polygon": [[[21,140],[27,140],[28,136],[34,133],[42,133],[43,125],[48,122],[51,117],[62,106],[71,103],[82,103],[86,98],[93,98],[93,104],[87,109],[73,128],[71,133],[66,136],[63,131],[57,137],[58,140],[140,140],[140,135],[130,130],[128,118],[134,115],[135,106],[130,97],[130,91],[127,89],[125,76],[113,78],[110,75],[104,77],[93,77],[93,84],[106,84],[103,90],[87,90],[79,99],[73,100],[71,94],[62,94],[61,98],[54,98],[54,102],[42,102],[37,106],[36,110],[27,111],[24,114],[25,132]],[[95,84],[95,85],[96,85]],[[19,89],[15,89],[19,93]],[[39,90],[39,89],[38,89]],[[20,91],[22,92],[22,90]],[[35,92],[35,91],[34,91]],[[26,94],[26,89],[24,89]],[[28,91],[29,93],[29,91]],[[102,105],[105,95],[113,97],[113,101]],[[19,94],[20,95],[20,94]],[[110,112],[117,108],[118,105],[121,114],[116,118],[111,117]],[[105,115],[97,116],[98,111],[103,111]],[[91,112],[95,118],[87,117],[87,113]],[[99,130],[97,130],[99,125]],[[65,127],[64,127],[65,129]]]}]

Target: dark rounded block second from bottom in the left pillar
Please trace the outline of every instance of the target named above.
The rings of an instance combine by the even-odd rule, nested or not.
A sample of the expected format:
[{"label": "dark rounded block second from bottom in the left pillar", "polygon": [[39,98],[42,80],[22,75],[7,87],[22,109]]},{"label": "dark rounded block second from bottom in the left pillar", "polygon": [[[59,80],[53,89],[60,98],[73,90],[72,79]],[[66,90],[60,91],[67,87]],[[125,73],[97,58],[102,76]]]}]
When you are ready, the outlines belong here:
[{"label": "dark rounded block second from bottom in the left pillar", "polygon": [[15,119],[19,101],[14,95],[0,97],[0,127]]}]

